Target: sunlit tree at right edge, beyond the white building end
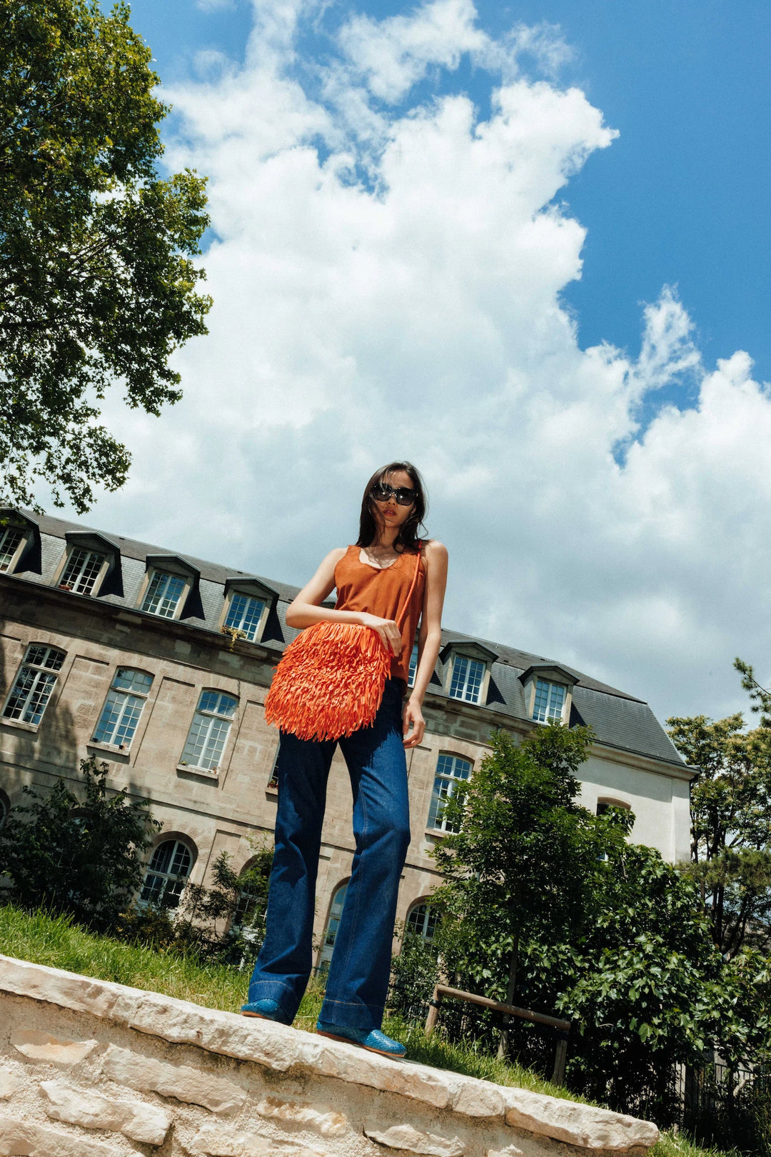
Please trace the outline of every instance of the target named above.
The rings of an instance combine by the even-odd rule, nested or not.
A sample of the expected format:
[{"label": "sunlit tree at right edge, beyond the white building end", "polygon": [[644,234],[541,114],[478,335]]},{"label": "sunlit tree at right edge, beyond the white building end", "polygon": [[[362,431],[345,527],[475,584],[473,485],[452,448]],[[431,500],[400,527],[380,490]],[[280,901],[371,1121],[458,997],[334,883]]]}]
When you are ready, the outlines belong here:
[{"label": "sunlit tree at right edge, beyond the white building end", "polygon": [[[736,659],[743,686],[759,699],[751,668]],[[754,707],[762,709],[762,701]],[[768,942],[771,924],[771,727],[744,730],[741,712],[667,720],[692,767],[691,863],[712,938],[727,957]]]}]

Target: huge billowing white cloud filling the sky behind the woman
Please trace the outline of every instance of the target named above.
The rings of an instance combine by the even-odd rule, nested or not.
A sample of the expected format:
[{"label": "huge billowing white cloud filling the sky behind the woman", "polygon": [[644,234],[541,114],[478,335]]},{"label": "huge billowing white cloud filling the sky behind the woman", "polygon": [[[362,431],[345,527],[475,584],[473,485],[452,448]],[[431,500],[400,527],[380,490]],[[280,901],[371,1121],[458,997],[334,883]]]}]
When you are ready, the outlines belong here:
[{"label": "huge billowing white cloud filling the sky behind the woman", "polygon": [[[299,582],[406,455],[451,548],[450,625],[660,714],[733,707],[734,654],[771,648],[771,403],[746,354],[705,371],[669,288],[638,358],[579,347],[561,293],[585,231],[554,199],[614,133],[581,91],[519,74],[534,47],[557,67],[558,36],[496,40],[470,0],[435,0],[353,17],[342,54],[309,62],[319,6],[254,10],[246,64],[171,94],[171,163],[210,176],[210,336],[161,422],[120,415],[132,481],[91,521]],[[431,68],[451,88],[464,54],[496,69],[488,119],[460,89],[384,111]],[[640,432],[685,379],[698,406],[661,403]]]}]

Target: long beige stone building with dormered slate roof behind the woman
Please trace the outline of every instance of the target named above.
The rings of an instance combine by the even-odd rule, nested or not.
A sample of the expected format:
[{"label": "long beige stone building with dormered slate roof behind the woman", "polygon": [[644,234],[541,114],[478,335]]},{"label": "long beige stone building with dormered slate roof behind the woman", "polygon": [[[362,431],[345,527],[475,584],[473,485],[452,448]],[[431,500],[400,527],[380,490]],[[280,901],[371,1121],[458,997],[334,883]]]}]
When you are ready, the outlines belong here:
[{"label": "long beige stone building with dormered slate roof behind the woman", "polygon": [[[272,670],[296,632],[296,588],[52,517],[5,511],[0,525],[0,819],[23,784],[111,783],[151,799],[163,830],[143,899],[206,882],[228,852],[245,868],[269,840],[279,735],[264,718]],[[689,854],[690,772],[650,707],[540,655],[454,631],[425,698],[424,743],[408,753],[413,841],[398,918],[430,935],[442,802],[473,775],[491,729],[525,736],[546,720],[592,725],[581,802],[636,816],[632,838],[670,861]],[[331,955],[350,871],[350,787],[328,786],[316,931]]]}]

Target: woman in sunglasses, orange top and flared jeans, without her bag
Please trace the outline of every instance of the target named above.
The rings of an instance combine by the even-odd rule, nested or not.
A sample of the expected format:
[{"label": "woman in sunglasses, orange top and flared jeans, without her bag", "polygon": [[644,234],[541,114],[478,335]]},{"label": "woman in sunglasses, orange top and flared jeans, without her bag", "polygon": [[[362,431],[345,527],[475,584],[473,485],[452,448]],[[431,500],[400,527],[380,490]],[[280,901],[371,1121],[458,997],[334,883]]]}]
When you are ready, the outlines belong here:
[{"label": "woman in sunglasses, orange top and flared jeans, without her bag", "polygon": [[[354,622],[370,627],[392,656],[371,725],[340,743],[354,795],[356,853],[346,891],[317,1031],[387,1056],[405,1047],[380,1032],[391,972],[399,878],[409,845],[406,747],[425,723],[421,705],[439,654],[447,552],[417,537],[425,495],[417,470],[393,462],[378,470],[362,501],[358,541],[327,554],[287,611],[287,625]],[[421,555],[420,560],[417,555]],[[401,631],[399,612],[418,573]],[[321,606],[338,590],[334,610]],[[417,622],[418,661],[403,702]],[[279,809],[267,929],[242,1011],[291,1024],[311,973],[316,877],[335,740],[281,732]]]}]

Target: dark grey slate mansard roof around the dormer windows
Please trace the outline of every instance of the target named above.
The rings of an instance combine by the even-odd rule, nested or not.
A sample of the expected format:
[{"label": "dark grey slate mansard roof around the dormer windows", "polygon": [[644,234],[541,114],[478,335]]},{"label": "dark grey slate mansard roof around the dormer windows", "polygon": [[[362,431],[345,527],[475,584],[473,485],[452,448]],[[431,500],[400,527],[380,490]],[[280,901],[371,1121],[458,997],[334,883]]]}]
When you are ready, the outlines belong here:
[{"label": "dark grey slate mansard roof around the dormer windows", "polygon": [[[66,536],[98,535],[106,539],[105,546],[109,543],[114,547],[119,554],[119,566],[114,568],[110,580],[103,584],[101,592],[95,598],[80,595],[69,595],[68,597],[79,600],[86,598],[90,603],[112,604],[146,618],[148,622],[169,625],[169,620],[160,620],[154,614],[139,611],[138,600],[147,572],[148,558],[173,557],[188,563],[197,572],[197,581],[193,583],[183,616],[178,620],[186,627],[216,633],[218,636],[225,584],[233,581],[257,580],[274,591],[277,598],[275,609],[268,617],[262,638],[255,646],[281,651],[297,634],[296,631],[287,626],[284,619],[287,606],[299,589],[297,587],[197,559],[178,551],[96,531],[81,523],[65,522],[49,515],[25,515],[25,517],[37,526],[39,539],[20,560],[20,567],[10,576],[13,578],[50,587],[57,568],[61,563]],[[576,680],[572,691],[571,723],[590,724],[602,745],[645,756],[648,759],[668,764],[673,768],[685,769],[685,764],[651,708],[635,695],[599,683],[591,676],[547,656],[533,655],[514,647],[460,634],[457,631],[443,629],[442,643],[442,656],[429,688],[432,693],[445,697],[445,663],[451,661],[451,655],[446,650],[447,644],[481,644],[497,656],[490,671],[487,702],[482,706],[504,717],[527,720],[525,688],[519,677],[533,665],[558,666]],[[452,700],[452,702],[455,701]]]}]

